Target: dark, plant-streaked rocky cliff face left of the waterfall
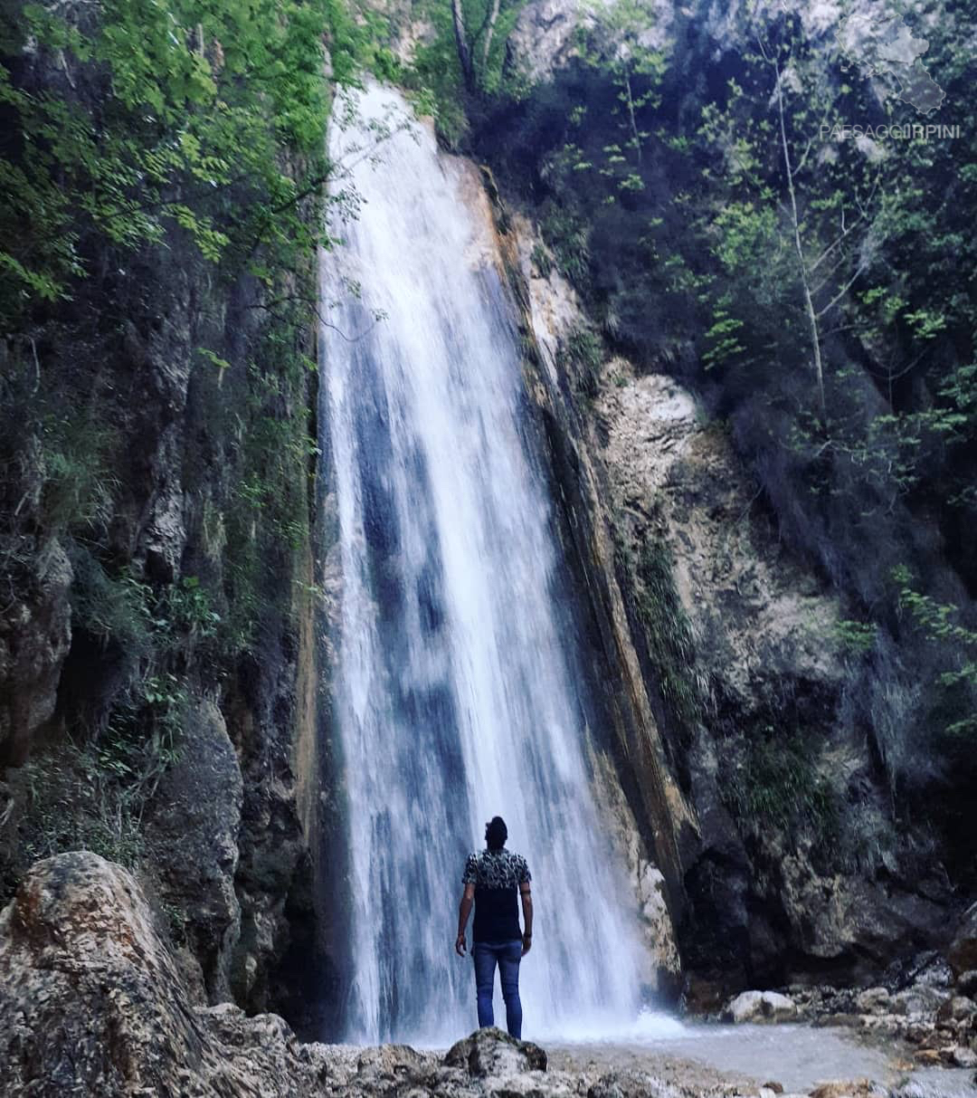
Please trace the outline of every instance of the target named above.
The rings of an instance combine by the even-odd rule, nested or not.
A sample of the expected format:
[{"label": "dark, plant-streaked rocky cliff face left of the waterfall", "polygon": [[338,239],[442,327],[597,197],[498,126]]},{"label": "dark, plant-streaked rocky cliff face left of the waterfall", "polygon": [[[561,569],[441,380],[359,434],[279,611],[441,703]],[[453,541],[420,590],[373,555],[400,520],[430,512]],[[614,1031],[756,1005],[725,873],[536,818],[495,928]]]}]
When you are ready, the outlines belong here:
[{"label": "dark, plant-streaked rocky cliff face left of the waterfall", "polygon": [[[19,66],[98,94],[63,57]],[[179,232],[89,247],[74,299],[0,345],[0,892],[98,850],[165,912],[201,1001],[260,1010],[313,920],[314,334]],[[284,279],[314,294],[311,264]]]}]

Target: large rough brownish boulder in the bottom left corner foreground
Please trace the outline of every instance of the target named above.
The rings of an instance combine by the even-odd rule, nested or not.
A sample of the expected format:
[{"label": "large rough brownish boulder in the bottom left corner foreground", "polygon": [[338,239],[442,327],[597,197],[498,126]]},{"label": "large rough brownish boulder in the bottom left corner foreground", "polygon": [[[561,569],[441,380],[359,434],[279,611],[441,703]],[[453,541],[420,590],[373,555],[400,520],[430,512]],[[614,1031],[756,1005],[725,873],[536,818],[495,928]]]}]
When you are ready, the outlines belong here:
[{"label": "large rough brownish boulder in the bottom left corner foreground", "polygon": [[5,1098],[312,1098],[329,1077],[280,1018],[194,1010],[139,885],[97,854],[38,862],[0,915]]}]

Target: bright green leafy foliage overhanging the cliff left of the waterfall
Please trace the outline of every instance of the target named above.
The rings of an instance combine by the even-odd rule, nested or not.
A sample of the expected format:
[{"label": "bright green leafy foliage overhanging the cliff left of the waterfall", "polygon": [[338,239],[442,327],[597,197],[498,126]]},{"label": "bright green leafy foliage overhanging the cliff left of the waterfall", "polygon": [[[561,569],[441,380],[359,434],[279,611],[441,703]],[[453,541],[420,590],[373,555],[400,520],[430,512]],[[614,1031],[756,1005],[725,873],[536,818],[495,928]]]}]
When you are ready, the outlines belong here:
[{"label": "bright green leafy foliage overhanging the cliff left of the waterfall", "polygon": [[304,206],[329,165],[323,36],[334,80],[358,41],[339,0],[13,4],[0,41],[30,43],[70,90],[0,67],[18,139],[0,157],[0,324],[71,295],[93,239],[123,251],[180,229],[201,254],[270,278],[318,231]]}]

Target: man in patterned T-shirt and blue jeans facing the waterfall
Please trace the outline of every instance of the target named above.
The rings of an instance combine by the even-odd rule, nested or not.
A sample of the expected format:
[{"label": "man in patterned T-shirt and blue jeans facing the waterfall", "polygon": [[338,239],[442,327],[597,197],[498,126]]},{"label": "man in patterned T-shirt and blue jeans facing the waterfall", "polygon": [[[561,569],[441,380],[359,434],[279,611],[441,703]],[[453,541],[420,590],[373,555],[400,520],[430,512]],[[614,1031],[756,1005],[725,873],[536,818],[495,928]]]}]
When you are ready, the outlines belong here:
[{"label": "man in patterned T-shirt and blue jeans facing the waterfall", "polygon": [[[472,928],[472,959],[475,962],[475,994],[479,1026],[493,1026],[492,994],[495,965],[502,997],[505,999],[506,1027],[515,1038],[523,1035],[523,1004],[519,1001],[519,961],[532,945],[532,896],[529,866],[521,854],[505,849],[508,828],[501,816],[485,825],[485,850],[468,855],[461,883],[464,892],[458,909],[458,939],[454,950],[464,956],[464,928],[475,905]],[[516,893],[523,900],[523,932]]]}]

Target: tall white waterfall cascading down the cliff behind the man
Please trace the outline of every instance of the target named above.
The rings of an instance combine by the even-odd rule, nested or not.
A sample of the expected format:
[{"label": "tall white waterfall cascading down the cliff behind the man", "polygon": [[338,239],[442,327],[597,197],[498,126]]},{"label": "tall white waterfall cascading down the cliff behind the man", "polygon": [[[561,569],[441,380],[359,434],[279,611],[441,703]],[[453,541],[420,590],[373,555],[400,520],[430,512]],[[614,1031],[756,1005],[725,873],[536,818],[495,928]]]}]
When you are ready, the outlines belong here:
[{"label": "tall white waterfall cascading down the cliff behind the man", "polygon": [[[334,159],[369,143],[391,102],[405,110],[390,91],[361,96]],[[379,164],[358,155],[346,182],[360,214],[323,258],[322,332],[342,570],[346,1035],[474,1028],[471,961],[452,945],[464,856],[495,814],[534,876],[525,1034],[614,1032],[638,1013],[641,946],[589,788],[513,307],[463,163],[420,127],[384,142]]]}]

